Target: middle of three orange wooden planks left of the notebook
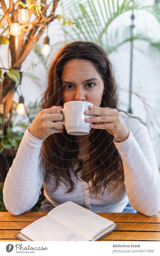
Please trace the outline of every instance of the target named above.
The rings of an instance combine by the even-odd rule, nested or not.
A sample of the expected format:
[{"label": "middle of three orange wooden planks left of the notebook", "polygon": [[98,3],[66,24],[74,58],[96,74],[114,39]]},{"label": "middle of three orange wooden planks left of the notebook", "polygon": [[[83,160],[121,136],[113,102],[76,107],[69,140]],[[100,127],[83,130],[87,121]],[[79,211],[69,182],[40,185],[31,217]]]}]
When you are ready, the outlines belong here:
[{"label": "middle of three orange wooden planks left of the notebook", "polygon": [[32,221],[0,221],[0,229],[23,229]]}]

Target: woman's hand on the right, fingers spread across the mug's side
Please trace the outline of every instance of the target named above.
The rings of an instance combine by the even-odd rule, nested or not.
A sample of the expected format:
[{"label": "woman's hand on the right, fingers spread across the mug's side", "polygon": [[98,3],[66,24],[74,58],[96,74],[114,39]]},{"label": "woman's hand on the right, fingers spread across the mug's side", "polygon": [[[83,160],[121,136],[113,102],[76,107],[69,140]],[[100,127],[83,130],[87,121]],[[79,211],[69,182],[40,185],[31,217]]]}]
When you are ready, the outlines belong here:
[{"label": "woman's hand on the right, fingers spread across the mug's side", "polygon": [[105,129],[118,142],[125,141],[128,138],[129,130],[117,109],[108,110],[107,108],[89,105],[89,112],[86,111],[84,111],[85,115],[93,115],[93,117],[85,119],[86,122],[93,123],[90,128]]}]

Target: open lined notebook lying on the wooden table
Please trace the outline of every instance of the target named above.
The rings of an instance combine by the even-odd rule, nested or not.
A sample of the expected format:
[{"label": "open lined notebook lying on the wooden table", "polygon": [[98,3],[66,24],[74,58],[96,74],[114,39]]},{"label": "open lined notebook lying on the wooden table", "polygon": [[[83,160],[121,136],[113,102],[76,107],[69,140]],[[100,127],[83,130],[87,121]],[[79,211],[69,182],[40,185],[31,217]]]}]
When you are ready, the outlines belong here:
[{"label": "open lined notebook lying on the wooden table", "polygon": [[58,205],[15,235],[21,241],[97,241],[118,226],[71,201]]}]

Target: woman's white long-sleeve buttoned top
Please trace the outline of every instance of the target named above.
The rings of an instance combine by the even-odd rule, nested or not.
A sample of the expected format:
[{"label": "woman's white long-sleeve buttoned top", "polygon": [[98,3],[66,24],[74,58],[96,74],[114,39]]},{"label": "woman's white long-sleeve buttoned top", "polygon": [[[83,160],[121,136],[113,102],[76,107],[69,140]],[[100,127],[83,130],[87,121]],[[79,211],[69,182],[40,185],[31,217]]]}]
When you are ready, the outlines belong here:
[{"label": "woman's white long-sleeve buttoned top", "polygon": [[43,140],[30,134],[27,127],[5,179],[3,199],[6,209],[13,215],[31,209],[37,203],[44,185],[44,195],[54,207],[73,201],[93,212],[122,212],[129,200],[138,212],[147,216],[156,214],[160,208],[160,176],[148,132],[139,120],[124,112],[120,114],[130,132],[123,142],[113,140],[124,169],[124,180],[119,182],[116,190],[112,191],[111,185],[110,194],[107,188],[103,195],[92,194],[91,182],[78,180],[71,172],[75,189],[65,194],[67,188],[60,182],[57,190],[51,192],[52,183],[50,185],[44,181],[45,170],[38,167]]}]

